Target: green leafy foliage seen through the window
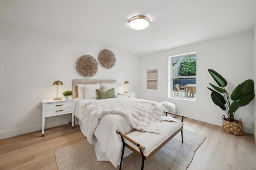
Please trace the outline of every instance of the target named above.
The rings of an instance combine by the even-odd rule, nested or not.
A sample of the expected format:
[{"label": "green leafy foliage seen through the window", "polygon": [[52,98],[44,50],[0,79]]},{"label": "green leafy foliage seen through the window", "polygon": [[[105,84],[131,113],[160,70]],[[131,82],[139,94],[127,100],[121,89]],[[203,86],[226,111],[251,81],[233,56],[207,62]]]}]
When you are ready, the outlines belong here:
[{"label": "green leafy foliage seen through the window", "polygon": [[180,75],[196,75],[196,57],[187,57],[180,62]]}]

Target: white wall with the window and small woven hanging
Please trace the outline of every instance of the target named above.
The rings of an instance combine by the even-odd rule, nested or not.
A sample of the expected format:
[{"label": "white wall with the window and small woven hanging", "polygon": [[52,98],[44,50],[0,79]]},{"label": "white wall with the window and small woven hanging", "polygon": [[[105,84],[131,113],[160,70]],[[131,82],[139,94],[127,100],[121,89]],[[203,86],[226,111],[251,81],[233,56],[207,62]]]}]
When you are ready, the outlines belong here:
[{"label": "white wall with the window and small woven hanging", "polygon": [[[207,69],[214,69],[228,81],[226,90],[230,93],[244,80],[254,79],[253,39],[254,32],[249,31],[140,57],[140,98],[170,101],[176,104],[176,113],[180,115],[222,126],[225,113],[212,102],[207,87],[215,81]],[[196,101],[168,98],[168,56],[194,51],[197,52]],[[146,89],[146,69],[152,63],[158,68],[158,90]],[[251,134],[253,117],[254,101],[235,113],[235,119],[242,119],[244,131]]]}]

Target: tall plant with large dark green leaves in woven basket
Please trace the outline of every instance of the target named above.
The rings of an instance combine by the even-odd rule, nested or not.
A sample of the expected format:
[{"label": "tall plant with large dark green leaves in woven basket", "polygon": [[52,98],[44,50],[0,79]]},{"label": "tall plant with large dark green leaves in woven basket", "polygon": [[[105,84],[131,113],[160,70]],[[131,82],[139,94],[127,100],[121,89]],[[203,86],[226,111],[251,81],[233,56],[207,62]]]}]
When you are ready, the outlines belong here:
[{"label": "tall plant with large dark green leaves in woven basket", "polygon": [[225,111],[228,116],[228,118],[225,118],[224,115],[222,116],[222,130],[230,134],[242,136],[242,121],[241,119],[239,121],[234,119],[234,114],[240,107],[248,105],[254,98],[254,82],[251,79],[244,81],[233,90],[229,97],[228,92],[225,90],[228,84],[227,81],[216,71],[212,69],[208,69],[208,71],[219,86],[217,87],[209,83],[214,90],[207,87],[212,91],[212,101]]}]

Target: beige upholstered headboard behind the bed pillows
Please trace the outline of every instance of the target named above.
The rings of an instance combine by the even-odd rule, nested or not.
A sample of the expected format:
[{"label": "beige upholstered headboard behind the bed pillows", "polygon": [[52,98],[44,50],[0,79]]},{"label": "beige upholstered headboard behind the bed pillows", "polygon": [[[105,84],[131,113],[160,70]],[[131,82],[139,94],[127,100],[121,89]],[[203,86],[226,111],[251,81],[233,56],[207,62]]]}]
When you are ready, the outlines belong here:
[{"label": "beige upholstered headboard behind the bed pillows", "polygon": [[78,97],[77,84],[116,83],[116,80],[73,79],[73,99]]}]

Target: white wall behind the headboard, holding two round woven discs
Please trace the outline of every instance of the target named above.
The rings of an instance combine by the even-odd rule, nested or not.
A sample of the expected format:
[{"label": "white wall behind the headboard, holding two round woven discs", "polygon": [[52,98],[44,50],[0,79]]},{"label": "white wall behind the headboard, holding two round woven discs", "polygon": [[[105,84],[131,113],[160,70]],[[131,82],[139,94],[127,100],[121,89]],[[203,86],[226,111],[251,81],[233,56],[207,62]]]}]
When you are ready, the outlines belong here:
[{"label": "white wall behind the headboard, holding two round woven discs", "polygon": [[[64,83],[58,86],[61,97],[64,90],[72,89],[72,79],[81,78],[74,71],[76,60],[91,55],[98,61],[102,49],[107,48],[0,23],[0,139],[41,130],[42,110],[37,111],[36,105],[56,97],[52,83],[57,79]],[[128,80],[128,90],[139,95],[139,57],[110,50],[116,57],[114,67],[104,69],[99,64],[90,79],[116,79],[118,92]],[[67,123],[68,115],[46,118],[46,128]]]}]

